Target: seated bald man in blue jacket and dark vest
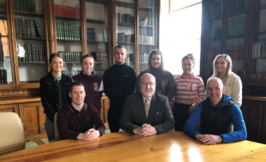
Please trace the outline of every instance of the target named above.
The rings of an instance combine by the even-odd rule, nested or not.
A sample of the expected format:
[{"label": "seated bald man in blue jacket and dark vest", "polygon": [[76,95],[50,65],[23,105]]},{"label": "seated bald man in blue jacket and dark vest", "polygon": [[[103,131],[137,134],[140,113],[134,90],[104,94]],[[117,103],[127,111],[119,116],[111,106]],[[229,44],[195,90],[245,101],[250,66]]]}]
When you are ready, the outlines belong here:
[{"label": "seated bald man in blue jacket and dark vest", "polygon": [[[209,97],[198,104],[184,125],[184,133],[206,145],[247,139],[247,130],[240,108],[233,98],[223,95],[222,80],[213,77],[207,82]],[[201,119],[199,131],[194,129]],[[234,125],[234,132],[233,132]]]}]

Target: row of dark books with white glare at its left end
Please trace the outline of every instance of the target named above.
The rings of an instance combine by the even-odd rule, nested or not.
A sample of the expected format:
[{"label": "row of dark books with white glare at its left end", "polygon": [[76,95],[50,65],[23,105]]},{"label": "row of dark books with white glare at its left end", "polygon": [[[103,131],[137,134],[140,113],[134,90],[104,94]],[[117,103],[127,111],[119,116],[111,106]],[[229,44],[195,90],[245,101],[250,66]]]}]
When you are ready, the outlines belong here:
[{"label": "row of dark books with white glare at its left end", "polygon": [[22,46],[25,50],[24,56],[18,55],[19,62],[46,62],[46,45],[40,44],[17,44],[17,53],[18,45]]}]

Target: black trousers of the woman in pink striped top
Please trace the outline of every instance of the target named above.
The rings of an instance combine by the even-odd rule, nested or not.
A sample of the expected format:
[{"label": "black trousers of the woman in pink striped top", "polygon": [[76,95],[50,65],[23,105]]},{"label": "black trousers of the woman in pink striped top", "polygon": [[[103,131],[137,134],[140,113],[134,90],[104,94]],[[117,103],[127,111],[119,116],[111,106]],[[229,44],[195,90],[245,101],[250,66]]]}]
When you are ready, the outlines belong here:
[{"label": "black trousers of the woman in pink striped top", "polygon": [[189,117],[188,109],[190,106],[179,103],[174,104],[175,131],[183,131],[184,124]]}]

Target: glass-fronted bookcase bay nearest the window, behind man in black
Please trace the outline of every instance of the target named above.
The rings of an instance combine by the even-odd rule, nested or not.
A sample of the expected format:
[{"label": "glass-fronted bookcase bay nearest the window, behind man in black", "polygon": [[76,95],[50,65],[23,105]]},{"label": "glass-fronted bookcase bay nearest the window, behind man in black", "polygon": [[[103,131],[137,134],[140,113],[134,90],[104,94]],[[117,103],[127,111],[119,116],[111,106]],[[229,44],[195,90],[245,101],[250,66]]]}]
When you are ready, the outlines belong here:
[{"label": "glass-fronted bookcase bay nearest the window, behind man in black", "polygon": [[147,69],[149,53],[159,48],[159,1],[120,0],[115,2],[116,45],[127,49],[126,63],[137,73]]}]

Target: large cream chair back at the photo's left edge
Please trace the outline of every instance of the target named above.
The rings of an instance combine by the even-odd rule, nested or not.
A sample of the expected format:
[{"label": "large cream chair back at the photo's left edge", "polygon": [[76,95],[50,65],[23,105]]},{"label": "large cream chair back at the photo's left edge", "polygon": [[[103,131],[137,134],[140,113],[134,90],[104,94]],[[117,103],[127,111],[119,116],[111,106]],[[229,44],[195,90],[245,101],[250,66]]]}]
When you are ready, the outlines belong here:
[{"label": "large cream chair back at the photo's left edge", "polygon": [[25,135],[15,112],[0,112],[0,156],[25,149]]}]

